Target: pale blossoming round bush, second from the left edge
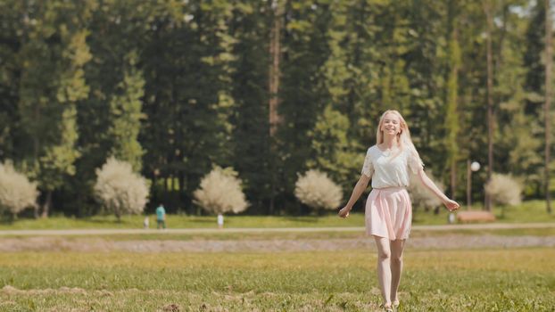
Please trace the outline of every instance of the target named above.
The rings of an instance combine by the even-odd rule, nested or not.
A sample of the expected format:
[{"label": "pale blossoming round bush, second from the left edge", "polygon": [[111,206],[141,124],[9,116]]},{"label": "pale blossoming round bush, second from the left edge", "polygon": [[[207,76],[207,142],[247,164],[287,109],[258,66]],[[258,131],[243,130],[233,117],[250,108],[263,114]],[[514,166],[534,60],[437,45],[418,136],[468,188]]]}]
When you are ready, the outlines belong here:
[{"label": "pale blossoming round bush, second from the left edge", "polygon": [[148,184],[133,172],[131,164],[111,157],[96,169],[95,196],[118,219],[124,214],[139,214],[148,201]]}]

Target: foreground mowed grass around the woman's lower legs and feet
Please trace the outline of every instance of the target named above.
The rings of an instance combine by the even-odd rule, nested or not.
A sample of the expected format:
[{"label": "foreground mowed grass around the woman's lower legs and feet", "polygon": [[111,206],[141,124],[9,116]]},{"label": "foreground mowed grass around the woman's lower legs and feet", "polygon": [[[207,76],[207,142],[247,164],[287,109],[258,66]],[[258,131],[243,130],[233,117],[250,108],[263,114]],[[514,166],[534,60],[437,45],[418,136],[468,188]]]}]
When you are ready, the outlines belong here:
[{"label": "foreground mowed grass around the woman's lower legs and feet", "polygon": [[[555,250],[410,250],[404,311],[552,311]],[[12,252],[0,255],[0,310],[366,311],[376,255]],[[75,309],[77,308],[77,309]]]}]

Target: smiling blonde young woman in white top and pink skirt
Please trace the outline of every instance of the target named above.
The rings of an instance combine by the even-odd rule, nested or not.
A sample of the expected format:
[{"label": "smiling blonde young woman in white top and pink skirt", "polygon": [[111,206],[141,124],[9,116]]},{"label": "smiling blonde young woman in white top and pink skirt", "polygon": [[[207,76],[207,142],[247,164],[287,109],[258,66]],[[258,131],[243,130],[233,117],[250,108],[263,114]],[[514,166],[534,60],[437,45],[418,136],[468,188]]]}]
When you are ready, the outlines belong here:
[{"label": "smiling blonde young woman in white top and pink skirt", "polygon": [[359,182],[339,217],[346,218],[352,205],[372,179],[372,192],[366,201],[366,232],[377,245],[377,279],[385,311],[399,306],[397,290],[401,281],[402,250],[410,234],[412,206],[406,187],[409,175],[418,175],[423,185],[435,193],[450,211],[459,209],[424,172],[424,165],[410,140],[407,123],[399,111],[385,111],[377,127],[377,144],[370,147]]}]

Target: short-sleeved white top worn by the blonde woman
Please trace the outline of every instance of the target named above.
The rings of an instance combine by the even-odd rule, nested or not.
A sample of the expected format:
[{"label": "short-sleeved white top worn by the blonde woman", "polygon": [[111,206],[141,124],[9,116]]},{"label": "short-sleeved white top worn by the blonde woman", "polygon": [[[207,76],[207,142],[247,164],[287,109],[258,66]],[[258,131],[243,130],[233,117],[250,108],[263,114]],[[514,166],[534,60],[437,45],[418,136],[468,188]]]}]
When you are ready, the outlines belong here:
[{"label": "short-sleeved white top worn by the blonde woman", "polygon": [[409,172],[418,174],[423,165],[415,151],[403,148],[382,151],[373,145],[366,152],[361,173],[372,177],[372,188],[407,187],[409,186]]}]

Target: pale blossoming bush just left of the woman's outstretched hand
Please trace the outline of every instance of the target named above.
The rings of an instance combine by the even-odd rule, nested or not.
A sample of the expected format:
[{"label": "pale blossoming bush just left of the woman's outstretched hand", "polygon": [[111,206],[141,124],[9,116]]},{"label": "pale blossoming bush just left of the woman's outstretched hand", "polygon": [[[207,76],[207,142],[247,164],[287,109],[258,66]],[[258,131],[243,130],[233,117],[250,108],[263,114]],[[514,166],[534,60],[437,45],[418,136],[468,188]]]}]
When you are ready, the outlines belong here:
[{"label": "pale blossoming bush just left of the woman's outstretched hand", "polygon": [[294,195],[312,209],[336,209],[343,200],[343,191],[327,174],[315,169],[299,176],[294,184]]}]

